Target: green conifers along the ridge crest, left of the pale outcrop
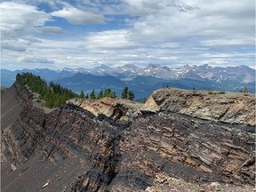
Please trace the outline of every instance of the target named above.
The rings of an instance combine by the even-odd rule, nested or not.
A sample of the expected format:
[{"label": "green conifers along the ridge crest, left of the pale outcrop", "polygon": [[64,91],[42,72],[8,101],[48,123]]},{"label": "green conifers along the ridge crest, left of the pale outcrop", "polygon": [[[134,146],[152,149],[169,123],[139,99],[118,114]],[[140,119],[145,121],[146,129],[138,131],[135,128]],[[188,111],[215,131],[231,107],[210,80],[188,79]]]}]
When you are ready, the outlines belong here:
[{"label": "green conifers along the ridge crest, left of the pale outcrop", "polygon": [[[55,84],[53,82],[47,84],[40,76],[35,76],[28,72],[17,74],[16,82],[21,86],[27,84],[32,92],[37,92],[40,95],[38,99],[45,100],[45,106],[48,108],[60,107],[61,105],[64,105],[67,100],[75,97],[91,100],[100,100],[103,97],[116,98],[116,92],[111,89],[101,90],[98,94],[95,93],[94,89],[90,95],[85,95],[84,91],[77,94],[76,92],[68,90],[68,88],[60,86],[60,84]],[[127,86],[125,86],[121,93],[121,99],[134,100],[135,95],[132,91],[129,91]]]}]

